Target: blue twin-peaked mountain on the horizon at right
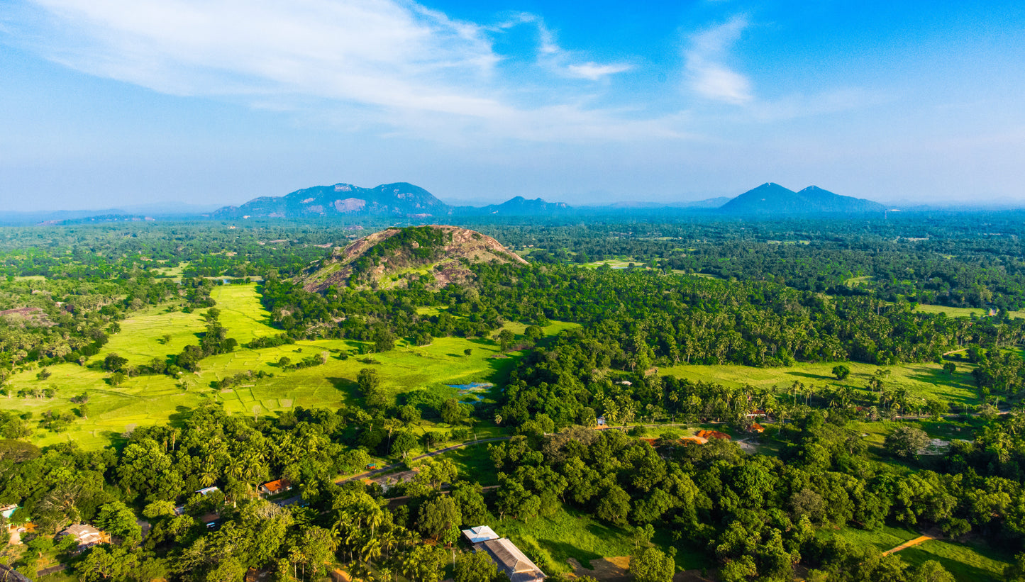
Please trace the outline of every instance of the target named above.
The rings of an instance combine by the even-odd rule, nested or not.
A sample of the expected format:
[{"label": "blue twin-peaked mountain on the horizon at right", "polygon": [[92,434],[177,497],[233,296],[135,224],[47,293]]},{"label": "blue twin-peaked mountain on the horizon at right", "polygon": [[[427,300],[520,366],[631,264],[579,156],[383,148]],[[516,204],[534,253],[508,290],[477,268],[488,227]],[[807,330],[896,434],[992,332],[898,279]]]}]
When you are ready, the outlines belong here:
[{"label": "blue twin-peaked mountain on the horizon at right", "polygon": [[749,190],[720,207],[729,214],[855,214],[883,212],[886,206],[871,200],[840,196],[816,185],[801,192],[778,183],[764,183]]}]

